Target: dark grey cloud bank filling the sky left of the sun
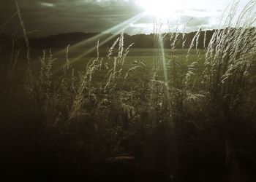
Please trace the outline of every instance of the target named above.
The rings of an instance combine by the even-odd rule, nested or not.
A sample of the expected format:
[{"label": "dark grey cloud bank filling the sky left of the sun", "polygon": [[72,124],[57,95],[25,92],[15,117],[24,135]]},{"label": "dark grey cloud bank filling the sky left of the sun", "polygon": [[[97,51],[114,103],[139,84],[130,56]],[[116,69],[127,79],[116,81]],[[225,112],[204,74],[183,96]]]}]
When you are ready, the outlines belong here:
[{"label": "dark grey cloud bank filling the sky left of the sun", "polygon": [[[141,11],[135,4],[121,0],[19,0],[18,3],[28,31],[38,30],[34,36],[69,31],[101,32]],[[1,1],[0,23],[12,17],[14,12],[14,1]],[[0,31],[10,33],[18,29],[15,17]]]}]

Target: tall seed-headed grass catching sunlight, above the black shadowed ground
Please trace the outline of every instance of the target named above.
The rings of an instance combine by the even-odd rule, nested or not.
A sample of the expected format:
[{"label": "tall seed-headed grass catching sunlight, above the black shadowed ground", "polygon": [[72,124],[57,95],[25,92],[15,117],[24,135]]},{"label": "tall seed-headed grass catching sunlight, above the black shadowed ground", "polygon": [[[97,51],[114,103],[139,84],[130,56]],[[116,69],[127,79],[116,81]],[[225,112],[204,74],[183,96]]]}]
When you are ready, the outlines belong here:
[{"label": "tall seed-headed grass catching sunlight, above the black shadowed ground", "polygon": [[[238,7],[235,2],[220,26],[222,29],[207,37],[206,31],[202,33],[200,28],[183,55],[176,55],[176,44],[178,36],[182,36],[183,46],[186,43],[185,30],[170,33],[171,49],[167,53],[161,52],[163,36],[159,33],[156,36],[159,52],[155,68],[152,79],[147,80],[133,77],[143,74],[143,68],[147,66],[143,60],[125,66],[132,44],[124,47],[124,33],[113,42],[105,58],[99,56],[100,40],[97,41],[96,58],[84,65],[80,72],[72,67],[70,45],[67,45],[61,76],[52,71],[56,64],[53,52],[43,50],[37,60],[39,71],[31,71],[29,79],[22,80],[18,87],[15,74],[18,73],[16,65],[20,50],[14,50],[13,45],[7,71],[9,79],[2,81],[8,83],[9,91],[2,95],[9,95],[8,98],[16,104],[12,107],[23,112],[23,119],[31,120],[29,128],[35,138],[59,143],[60,138],[68,135],[72,142],[67,145],[80,148],[94,159],[135,150],[124,149],[123,143],[131,138],[140,138],[131,144],[133,147],[146,146],[146,136],[162,124],[180,130],[178,127],[183,128],[182,124],[192,122],[195,130],[210,135],[207,133],[209,125],[213,130],[224,128],[213,128],[215,122],[223,124],[227,120],[243,119],[251,122],[255,119],[256,108],[253,67],[256,29],[252,28],[256,17],[252,14],[255,3],[250,1],[234,21]],[[15,5],[30,65],[29,38],[16,0]],[[200,36],[204,36],[205,55],[200,55],[201,50],[198,50]],[[208,47],[206,39],[211,39]],[[188,63],[192,50],[196,52],[195,60]],[[166,63],[164,59],[167,59]],[[203,69],[198,66],[202,61]],[[99,82],[97,76],[102,74],[104,79]],[[232,125],[232,122],[228,123],[228,126]]]}]

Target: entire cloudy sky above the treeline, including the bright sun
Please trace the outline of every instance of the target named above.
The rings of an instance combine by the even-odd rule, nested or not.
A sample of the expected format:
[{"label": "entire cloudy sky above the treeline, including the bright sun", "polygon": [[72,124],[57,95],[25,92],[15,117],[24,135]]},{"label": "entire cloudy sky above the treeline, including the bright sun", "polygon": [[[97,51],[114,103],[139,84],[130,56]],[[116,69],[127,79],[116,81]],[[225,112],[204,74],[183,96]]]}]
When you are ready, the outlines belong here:
[{"label": "entire cloudy sky above the treeline, including the bright sun", "polygon": [[[232,0],[231,0],[232,1]],[[249,0],[241,0],[238,12]],[[230,0],[18,0],[29,36],[67,32],[129,34],[218,28]],[[0,0],[0,33],[21,33],[13,0]]]}]

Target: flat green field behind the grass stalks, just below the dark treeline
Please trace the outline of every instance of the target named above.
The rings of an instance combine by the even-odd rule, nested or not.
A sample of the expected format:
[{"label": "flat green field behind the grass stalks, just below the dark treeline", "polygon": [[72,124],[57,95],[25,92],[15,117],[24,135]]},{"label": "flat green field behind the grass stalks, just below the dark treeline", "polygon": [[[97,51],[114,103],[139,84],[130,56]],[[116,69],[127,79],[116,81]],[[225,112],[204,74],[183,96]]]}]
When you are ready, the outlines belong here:
[{"label": "flat green field behind the grass stalks, just below the dark treeline", "polygon": [[[45,50],[47,53],[50,50]],[[86,68],[87,63],[89,63],[90,60],[93,60],[97,57],[97,50],[94,50],[89,53],[89,55],[84,55],[83,58],[79,58],[80,55],[83,55],[83,52],[87,52],[88,49],[82,49],[78,48],[76,50],[69,51],[69,61],[72,64],[72,68],[75,69],[75,71],[84,71]],[[10,51],[9,51],[10,52]],[[63,67],[66,64],[66,48],[64,49],[53,49],[51,50],[53,53],[53,76],[56,74],[62,74],[63,73]],[[113,56],[117,56],[118,50],[113,50]],[[172,63],[172,60],[175,60],[177,63],[177,68],[179,70],[183,70],[184,73],[187,71],[187,68],[189,65],[191,65],[193,62],[197,62],[197,65],[195,65],[195,68],[197,71],[203,71],[204,68],[204,60],[205,60],[205,53],[206,50],[190,50],[189,56],[187,57],[187,49],[184,50],[175,50],[175,57],[172,56],[171,50],[166,49],[165,50],[165,65],[170,66]],[[43,54],[43,50],[32,50],[31,52],[31,68],[34,72],[39,72],[40,69],[40,59]],[[129,49],[129,53],[125,59],[124,62],[124,70],[128,71],[129,68],[132,68],[134,62],[136,60],[141,60],[145,65],[143,66],[143,71],[136,72],[134,77],[143,78],[143,79],[152,79],[153,72],[157,70],[159,67],[159,64],[161,60],[159,58],[161,57],[161,52],[159,52],[158,49]],[[107,60],[108,50],[105,48],[102,48],[99,50],[99,60]],[[2,56],[3,60],[8,60],[10,58],[10,55]],[[78,58],[78,59],[77,59]],[[110,60],[110,63],[113,63],[113,60]],[[23,50],[20,53],[20,59],[18,61],[18,72],[23,73],[23,71],[26,71],[27,68],[27,61],[26,61],[26,50]],[[105,66],[102,66],[105,68]],[[160,66],[161,67],[161,66]],[[153,71],[153,72],[152,72]],[[19,73],[16,73],[19,75]],[[170,73],[169,73],[170,72]],[[103,81],[105,80],[105,76],[108,76],[108,71],[102,71],[101,73],[95,74],[95,78],[100,81],[100,79]],[[162,73],[159,73],[161,75]],[[168,69],[168,74],[171,75],[170,69]],[[20,76],[18,76],[20,78]]]}]

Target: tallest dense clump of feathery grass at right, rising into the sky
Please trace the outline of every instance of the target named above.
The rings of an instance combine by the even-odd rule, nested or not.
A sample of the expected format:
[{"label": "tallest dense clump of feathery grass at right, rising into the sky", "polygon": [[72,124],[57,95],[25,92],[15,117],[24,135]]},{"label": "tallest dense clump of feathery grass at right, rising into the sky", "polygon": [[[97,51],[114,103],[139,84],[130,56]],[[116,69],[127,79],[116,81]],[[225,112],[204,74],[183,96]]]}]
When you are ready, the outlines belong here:
[{"label": "tallest dense clump of feathery grass at right, rising into the sky", "polygon": [[[236,15],[234,4],[226,28],[218,30],[211,38],[206,52],[206,71],[204,72],[211,103],[216,103],[222,114],[235,114],[244,107],[244,92],[249,87],[250,66],[255,63],[255,17],[250,1],[233,22]],[[216,110],[217,108],[214,108]]]}]

